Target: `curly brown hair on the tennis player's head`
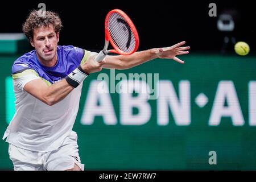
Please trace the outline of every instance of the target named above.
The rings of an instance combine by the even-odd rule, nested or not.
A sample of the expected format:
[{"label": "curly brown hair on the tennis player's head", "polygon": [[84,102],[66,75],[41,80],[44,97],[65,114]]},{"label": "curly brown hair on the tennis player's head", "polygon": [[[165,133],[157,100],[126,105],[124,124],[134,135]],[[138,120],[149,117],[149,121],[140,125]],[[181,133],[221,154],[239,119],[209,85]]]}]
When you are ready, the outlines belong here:
[{"label": "curly brown hair on the tennis player's head", "polygon": [[40,11],[33,10],[28,15],[26,22],[22,25],[22,31],[27,36],[28,40],[33,39],[33,33],[35,28],[48,27],[50,24],[53,25],[55,32],[60,32],[62,26],[61,19],[57,13],[52,11]]}]

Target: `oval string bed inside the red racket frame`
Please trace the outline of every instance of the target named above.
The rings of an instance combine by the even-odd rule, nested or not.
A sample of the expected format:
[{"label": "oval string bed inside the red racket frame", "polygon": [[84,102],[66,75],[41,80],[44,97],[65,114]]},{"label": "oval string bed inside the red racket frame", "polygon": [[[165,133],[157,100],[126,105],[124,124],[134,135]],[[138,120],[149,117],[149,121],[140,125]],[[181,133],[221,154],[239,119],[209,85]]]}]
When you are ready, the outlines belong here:
[{"label": "oval string bed inside the red racket frame", "polygon": [[135,36],[129,24],[118,13],[109,17],[108,31],[115,44],[123,52],[131,52],[135,48]]}]

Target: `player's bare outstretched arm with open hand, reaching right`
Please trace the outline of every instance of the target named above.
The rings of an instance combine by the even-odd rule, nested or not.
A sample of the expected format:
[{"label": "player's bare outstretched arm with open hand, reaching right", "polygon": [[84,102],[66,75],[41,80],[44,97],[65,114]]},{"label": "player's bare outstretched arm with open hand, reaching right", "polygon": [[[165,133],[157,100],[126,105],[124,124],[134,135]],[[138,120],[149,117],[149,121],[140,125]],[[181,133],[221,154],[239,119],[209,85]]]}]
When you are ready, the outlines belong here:
[{"label": "player's bare outstretched arm with open hand, reaching right", "polygon": [[189,46],[181,47],[184,44],[185,41],[177,43],[171,47],[152,48],[147,51],[135,52],[128,56],[106,56],[106,64],[104,64],[103,68],[128,69],[156,58],[173,59],[178,63],[183,64],[184,61],[176,56],[189,53],[187,51],[190,48]]}]

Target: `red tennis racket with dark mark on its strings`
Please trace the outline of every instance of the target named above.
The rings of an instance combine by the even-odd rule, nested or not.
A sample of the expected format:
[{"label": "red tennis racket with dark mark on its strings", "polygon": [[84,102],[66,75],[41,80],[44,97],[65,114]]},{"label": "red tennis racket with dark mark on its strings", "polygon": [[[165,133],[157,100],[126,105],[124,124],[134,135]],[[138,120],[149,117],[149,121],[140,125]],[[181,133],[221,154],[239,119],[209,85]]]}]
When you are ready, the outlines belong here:
[{"label": "red tennis racket with dark mark on its strings", "polygon": [[[109,42],[114,49],[109,49]],[[122,10],[109,11],[105,18],[105,45],[95,60],[100,62],[108,53],[130,55],[139,47],[138,32],[129,18]]]}]

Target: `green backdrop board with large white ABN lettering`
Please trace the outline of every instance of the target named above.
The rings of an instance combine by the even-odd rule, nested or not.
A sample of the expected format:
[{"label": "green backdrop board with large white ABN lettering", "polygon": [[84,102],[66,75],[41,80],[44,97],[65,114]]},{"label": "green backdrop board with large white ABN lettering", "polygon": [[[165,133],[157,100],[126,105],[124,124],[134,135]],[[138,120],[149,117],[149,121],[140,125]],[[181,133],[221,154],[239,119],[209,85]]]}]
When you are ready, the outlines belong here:
[{"label": "green backdrop board with large white ABN lettering", "polygon": [[[14,112],[10,76],[18,56],[0,56],[1,136]],[[115,70],[114,76],[127,77],[158,73],[157,100],[140,93],[101,97],[95,92],[100,73],[86,78],[73,128],[85,169],[256,169],[256,57],[180,58],[185,64],[155,59]],[[113,76],[113,70],[101,73]],[[2,140],[0,148],[0,169],[12,169],[8,144]],[[216,164],[209,164],[210,151],[216,152]]]}]

